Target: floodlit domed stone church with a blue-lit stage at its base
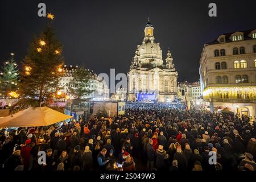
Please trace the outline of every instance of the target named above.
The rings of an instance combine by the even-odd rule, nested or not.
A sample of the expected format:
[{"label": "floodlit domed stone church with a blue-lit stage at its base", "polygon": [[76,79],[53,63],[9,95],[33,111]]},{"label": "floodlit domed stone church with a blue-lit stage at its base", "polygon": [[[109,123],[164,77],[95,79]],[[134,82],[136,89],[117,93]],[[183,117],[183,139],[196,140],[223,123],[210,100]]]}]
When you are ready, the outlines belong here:
[{"label": "floodlit domed stone church with a blue-lit stage at its base", "polygon": [[163,61],[162,49],[155,42],[154,27],[148,19],[143,42],[137,46],[127,73],[128,100],[172,102],[177,97],[177,76],[170,50]]}]

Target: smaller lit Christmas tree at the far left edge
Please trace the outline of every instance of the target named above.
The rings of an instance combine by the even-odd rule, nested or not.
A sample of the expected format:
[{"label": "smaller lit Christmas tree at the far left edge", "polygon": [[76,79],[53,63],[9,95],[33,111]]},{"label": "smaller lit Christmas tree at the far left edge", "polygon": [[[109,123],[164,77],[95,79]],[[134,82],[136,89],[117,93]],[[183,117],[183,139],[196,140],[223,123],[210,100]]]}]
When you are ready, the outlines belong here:
[{"label": "smaller lit Christmas tree at the far left edge", "polygon": [[3,63],[2,72],[0,73],[1,97],[8,97],[8,93],[16,91],[18,84],[18,65],[15,62],[13,53],[11,58]]}]

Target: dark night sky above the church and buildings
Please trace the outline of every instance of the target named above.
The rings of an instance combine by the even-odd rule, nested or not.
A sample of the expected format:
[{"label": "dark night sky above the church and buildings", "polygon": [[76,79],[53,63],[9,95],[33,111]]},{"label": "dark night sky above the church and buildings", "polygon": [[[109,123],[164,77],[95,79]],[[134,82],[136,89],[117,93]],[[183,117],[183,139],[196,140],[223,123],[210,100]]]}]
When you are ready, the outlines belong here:
[{"label": "dark night sky above the church and buildings", "polygon": [[[256,28],[256,1],[0,1],[0,60],[10,52],[20,61],[28,43],[46,25],[39,18],[38,3],[55,15],[53,27],[63,44],[65,64],[85,65],[96,73],[127,73],[131,58],[143,40],[150,16],[155,41],[166,58],[174,57],[179,81],[199,79],[204,43],[226,32]],[[217,18],[208,16],[210,2],[217,4]]]}]

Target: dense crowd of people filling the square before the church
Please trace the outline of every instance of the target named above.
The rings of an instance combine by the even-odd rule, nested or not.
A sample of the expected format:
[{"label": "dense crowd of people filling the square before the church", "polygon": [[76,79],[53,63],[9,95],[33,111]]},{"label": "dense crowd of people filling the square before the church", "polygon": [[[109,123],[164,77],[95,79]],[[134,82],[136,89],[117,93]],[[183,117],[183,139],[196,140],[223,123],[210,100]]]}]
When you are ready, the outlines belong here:
[{"label": "dense crowd of people filling the square before the church", "polygon": [[130,103],[117,117],[8,131],[3,171],[256,170],[255,122],[200,106]]}]

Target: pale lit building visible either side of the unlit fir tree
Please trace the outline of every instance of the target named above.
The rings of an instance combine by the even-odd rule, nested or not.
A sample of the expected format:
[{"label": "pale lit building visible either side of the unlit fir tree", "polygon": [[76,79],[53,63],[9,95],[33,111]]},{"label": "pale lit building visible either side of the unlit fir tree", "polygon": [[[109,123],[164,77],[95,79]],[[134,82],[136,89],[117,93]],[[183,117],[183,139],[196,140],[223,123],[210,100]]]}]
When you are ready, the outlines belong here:
[{"label": "pale lit building visible either side of the unlit fir tree", "polygon": [[[63,76],[60,78],[60,86],[62,93],[67,94],[68,88],[73,87],[71,80],[73,79],[73,73],[76,69],[79,68],[77,65],[73,67],[73,65],[64,65],[63,67]],[[93,90],[92,93],[86,98],[90,98],[96,101],[105,101],[109,100],[109,88],[103,78],[99,77],[96,73],[93,73],[92,70],[89,70],[90,79],[89,85],[86,87],[87,89]]]}]

